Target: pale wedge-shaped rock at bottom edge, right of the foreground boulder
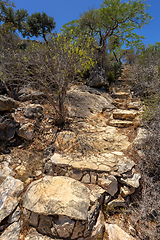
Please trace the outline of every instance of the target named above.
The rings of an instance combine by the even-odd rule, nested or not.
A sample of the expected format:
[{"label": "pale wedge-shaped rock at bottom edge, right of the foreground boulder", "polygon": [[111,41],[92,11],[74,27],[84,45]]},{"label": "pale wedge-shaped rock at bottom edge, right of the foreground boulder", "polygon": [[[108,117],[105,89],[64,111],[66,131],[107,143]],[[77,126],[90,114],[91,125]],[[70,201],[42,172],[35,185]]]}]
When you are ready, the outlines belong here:
[{"label": "pale wedge-shaped rock at bottom edge, right of the foreground boulder", "polygon": [[108,233],[109,240],[134,240],[134,238],[127,234],[116,224],[105,223],[105,230]]}]

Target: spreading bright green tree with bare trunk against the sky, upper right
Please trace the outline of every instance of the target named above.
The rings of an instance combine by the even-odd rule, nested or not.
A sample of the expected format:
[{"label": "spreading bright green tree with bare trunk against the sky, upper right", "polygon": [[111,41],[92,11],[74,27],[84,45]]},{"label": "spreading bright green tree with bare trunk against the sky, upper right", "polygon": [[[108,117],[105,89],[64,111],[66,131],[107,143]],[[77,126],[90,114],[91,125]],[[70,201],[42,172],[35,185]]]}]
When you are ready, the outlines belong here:
[{"label": "spreading bright green tree with bare trunk against the sky, upper right", "polygon": [[[138,45],[141,36],[134,32],[142,28],[152,19],[146,10],[149,5],[146,0],[133,0],[121,2],[121,0],[104,0],[99,9],[91,9],[82,14],[79,20],[64,25],[62,31],[72,29],[74,37],[78,37],[78,30],[93,36],[97,40],[97,52],[99,65],[104,66],[107,45],[112,42],[112,50],[120,48],[124,44]],[[73,35],[73,34],[72,34]]]}]

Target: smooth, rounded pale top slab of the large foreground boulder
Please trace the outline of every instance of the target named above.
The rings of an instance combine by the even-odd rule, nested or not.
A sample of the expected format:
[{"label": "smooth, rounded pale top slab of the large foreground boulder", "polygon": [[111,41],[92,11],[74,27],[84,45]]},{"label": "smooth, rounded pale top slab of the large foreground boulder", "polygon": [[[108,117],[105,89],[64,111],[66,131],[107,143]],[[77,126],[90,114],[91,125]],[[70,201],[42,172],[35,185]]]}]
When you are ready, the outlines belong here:
[{"label": "smooth, rounded pale top slab of the large foreground boulder", "polygon": [[68,177],[46,176],[31,183],[23,197],[23,207],[44,215],[66,215],[87,220],[89,189]]}]

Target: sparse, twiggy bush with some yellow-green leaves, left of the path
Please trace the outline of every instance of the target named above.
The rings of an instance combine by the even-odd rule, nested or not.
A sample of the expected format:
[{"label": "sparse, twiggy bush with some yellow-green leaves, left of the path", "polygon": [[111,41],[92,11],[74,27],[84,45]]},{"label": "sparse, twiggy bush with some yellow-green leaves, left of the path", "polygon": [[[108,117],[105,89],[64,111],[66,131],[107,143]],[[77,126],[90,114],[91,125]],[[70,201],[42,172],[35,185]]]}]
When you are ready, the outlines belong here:
[{"label": "sparse, twiggy bush with some yellow-green leaves, left of the path", "polygon": [[61,125],[66,121],[65,97],[70,82],[77,73],[94,65],[88,48],[88,43],[77,44],[60,35],[48,44],[29,41],[25,50],[7,48],[1,73],[3,82],[30,83],[43,91],[55,109],[57,124]]}]

